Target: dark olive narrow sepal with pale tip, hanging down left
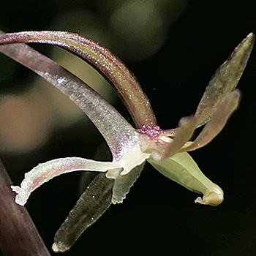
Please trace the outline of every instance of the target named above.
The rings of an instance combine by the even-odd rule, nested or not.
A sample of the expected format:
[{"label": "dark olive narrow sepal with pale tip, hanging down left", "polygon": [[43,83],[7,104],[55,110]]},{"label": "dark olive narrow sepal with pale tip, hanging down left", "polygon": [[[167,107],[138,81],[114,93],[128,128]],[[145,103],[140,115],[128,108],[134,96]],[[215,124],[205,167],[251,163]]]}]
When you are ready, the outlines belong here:
[{"label": "dark olive narrow sepal with pale tip, hanging down left", "polygon": [[111,205],[113,180],[99,173],[54,236],[54,252],[65,252]]}]

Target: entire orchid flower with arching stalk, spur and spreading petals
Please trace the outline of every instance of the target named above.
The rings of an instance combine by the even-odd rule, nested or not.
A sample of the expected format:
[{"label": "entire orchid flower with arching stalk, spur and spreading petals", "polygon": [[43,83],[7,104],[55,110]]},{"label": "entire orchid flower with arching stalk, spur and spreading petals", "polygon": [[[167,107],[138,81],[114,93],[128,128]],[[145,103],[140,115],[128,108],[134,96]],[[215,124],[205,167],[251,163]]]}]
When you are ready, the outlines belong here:
[{"label": "entire orchid flower with arching stalk, spur and spreading petals", "polygon": [[[58,45],[95,67],[116,89],[136,127],[132,127],[112,105],[86,83],[56,62],[23,44],[29,42]],[[203,197],[197,197],[196,203],[210,206],[222,203],[224,199],[222,189],[203,175],[187,151],[205,146],[213,140],[225,126],[233,111],[238,108],[240,92],[236,89],[236,85],[244,72],[253,43],[254,35],[251,33],[217,69],[203,94],[195,115],[181,118],[176,129],[163,130],[158,126],[150,102],[143,93],[138,80],[108,48],[94,40],[66,31],[2,33],[0,51],[29,67],[75,102],[99,129],[113,157],[111,162],[66,157],[39,164],[25,174],[20,187],[12,186],[18,194],[15,197],[16,203],[23,206],[34,189],[63,173],[77,170],[105,173],[105,176],[101,174],[94,179],[89,189],[86,189],[81,196],[83,200],[80,198],[73,212],[70,212],[72,219],[74,214],[80,211],[81,205],[85,204],[86,198],[89,200],[86,206],[91,204],[91,206],[98,207],[95,215],[97,219],[110,203],[123,202],[146,162],[178,184],[203,194]],[[203,125],[197,138],[190,141],[195,129]],[[99,200],[98,203],[94,203],[89,199],[90,193],[100,197],[99,200],[105,202],[105,205],[101,206]],[[64,222],[64,226],[67,222],[68,220]],[[93,222],[87,220],[85,225],[89,226]],[[67,231],[67,228],[60,229],[60,233],[64,231]],[[75,238],[69,239],[75,240],[79,235],[74,235]],[[61,241],[61,239],[58,241],[56,238],[53,244],[53,250],[56,252],[69,249],[73,243],[73,241]]]}]

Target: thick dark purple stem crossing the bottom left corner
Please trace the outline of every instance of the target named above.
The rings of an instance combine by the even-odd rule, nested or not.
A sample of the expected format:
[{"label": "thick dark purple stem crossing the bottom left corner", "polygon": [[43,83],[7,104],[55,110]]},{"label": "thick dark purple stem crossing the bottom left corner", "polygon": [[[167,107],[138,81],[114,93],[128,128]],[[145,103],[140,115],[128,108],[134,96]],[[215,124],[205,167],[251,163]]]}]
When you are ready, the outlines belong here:
[{"label": "thick dark purple stem crossing the bottom left corner", "polygon": [[50,256],[28,211],[15,203],[11,184],[0,160],[0,247],[4,256]]}]

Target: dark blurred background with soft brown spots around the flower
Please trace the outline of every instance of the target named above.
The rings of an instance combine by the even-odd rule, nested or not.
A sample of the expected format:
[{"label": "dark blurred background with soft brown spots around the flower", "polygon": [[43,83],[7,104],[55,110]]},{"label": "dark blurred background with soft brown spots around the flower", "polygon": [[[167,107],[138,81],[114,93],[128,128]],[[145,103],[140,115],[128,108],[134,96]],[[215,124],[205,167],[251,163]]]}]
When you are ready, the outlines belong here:
[{"label": "dark blurred background with soft brown spots around the flower", "polygon": [[[159,126],[170,129],[181,116],[195,113],[217,67],[249,32],[256,33],[256,15],[252,0],[1,1],[0,29],[67,30],[96,39],[134,72]],[[114,91],[89,65],[53,46],[32,47],[89,83],[132,123]],[[195,193],[146,165],[124,203],[111,206],[65,255],[117,255],[121,248],[127,254],[255,255],[255,54],[238,84],[240,108],[210,145],[191,153],[224,190],[224,203],[195,205]],[[0,156],[15,184],[39,162],[92,158],[103,141],[59,91],[0,55]],[[107,159],[104,154],[99,158]],[[54,178],[26,204],[49,249],[78,199],[80,177]]]}]

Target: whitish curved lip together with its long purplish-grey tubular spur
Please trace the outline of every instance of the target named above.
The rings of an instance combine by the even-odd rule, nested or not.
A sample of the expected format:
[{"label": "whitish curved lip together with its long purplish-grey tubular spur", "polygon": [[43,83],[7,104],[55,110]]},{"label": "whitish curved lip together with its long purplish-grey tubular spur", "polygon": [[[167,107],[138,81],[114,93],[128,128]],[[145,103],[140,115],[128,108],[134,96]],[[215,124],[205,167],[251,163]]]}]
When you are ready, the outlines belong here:
[{"label": "whitish curved lip together with its long purplish-grey tubular spur", "polygon": [[[37,72],[75,102],[94,122],[113,154],[113,162],[67,157],[54,159],[34,167],[29,173],[26,173],[20,187],[12,187],[18,193],[16,203],[24,205],[34,189],[62,173],[75,170],[109,170],[113,178],[118,176],[120,171],[124,174],[129,173],[136,165],[141,165],[149,157],[149,154],[140,151],[140,134],[113,106],[66,69],[27,45],[8,45],[4,48],[1,46],[1,51],[26,64],[26,67]],[[133,159],[133,162],[129,159]]]}]

